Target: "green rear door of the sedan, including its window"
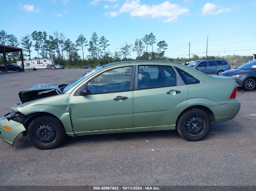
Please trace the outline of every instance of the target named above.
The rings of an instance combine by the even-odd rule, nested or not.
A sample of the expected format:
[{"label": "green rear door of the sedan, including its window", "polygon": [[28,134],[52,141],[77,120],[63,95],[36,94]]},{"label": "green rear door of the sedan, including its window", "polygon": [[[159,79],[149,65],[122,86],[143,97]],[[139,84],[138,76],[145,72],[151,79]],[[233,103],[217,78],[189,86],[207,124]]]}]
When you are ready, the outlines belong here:
[{"label": "green rear door of the sedan, including its window", "polygon": [[187,99],[188,88],[181,78],[177,78],[172,66],[136,66],[135,127],[173,125],[178,112],[186,107]]}]

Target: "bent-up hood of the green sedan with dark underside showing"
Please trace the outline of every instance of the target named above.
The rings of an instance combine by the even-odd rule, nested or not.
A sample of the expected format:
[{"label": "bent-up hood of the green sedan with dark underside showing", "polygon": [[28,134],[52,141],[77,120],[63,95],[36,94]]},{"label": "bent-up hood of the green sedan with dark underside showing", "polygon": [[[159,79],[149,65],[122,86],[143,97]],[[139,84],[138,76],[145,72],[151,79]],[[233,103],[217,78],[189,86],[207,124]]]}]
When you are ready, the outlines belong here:
[{"label": "bent-up hood of the green sedan with dark underside showing", "polygon": [[19,98],[22,103],[37,100],[44,97],[50,97],[62,94],[60,88],[66,84],[39,84],[19,92]]}]

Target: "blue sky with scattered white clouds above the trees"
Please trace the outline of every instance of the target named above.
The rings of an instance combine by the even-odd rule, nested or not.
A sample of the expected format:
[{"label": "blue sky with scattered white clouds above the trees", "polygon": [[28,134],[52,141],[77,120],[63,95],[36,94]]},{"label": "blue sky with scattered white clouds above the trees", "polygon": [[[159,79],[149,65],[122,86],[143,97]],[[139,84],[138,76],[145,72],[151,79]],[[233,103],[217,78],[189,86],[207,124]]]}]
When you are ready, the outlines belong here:
[{"label": "blue sky with scattered white clouds above the trees", "polygon": [[157,41],[168,44],[165,56],[173,58],[188,57],[189,41],[191,54],[205,56],[209,35],[208,55],[252,55],[255,9],[256,1],[251,0],[0,0],[1,14],[8,15],[0,21],[0,30],[18,39],[34,30],[48,35],[57,30],[73,42],[80,34],[89,40],[96,32],[109,40],[112,53],[153,32]]}]

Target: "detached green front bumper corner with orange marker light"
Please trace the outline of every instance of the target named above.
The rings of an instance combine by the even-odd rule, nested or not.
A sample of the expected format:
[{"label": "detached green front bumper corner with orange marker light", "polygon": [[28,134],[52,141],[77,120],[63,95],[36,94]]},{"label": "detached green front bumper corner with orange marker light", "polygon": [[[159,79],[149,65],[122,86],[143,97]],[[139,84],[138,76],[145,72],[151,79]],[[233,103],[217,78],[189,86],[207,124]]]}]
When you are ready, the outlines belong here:
[{"label": "detached green front bumper corner with orange marker light", "polygon": [[[15,122],[13,120],[9,120],[7,119],[7,117],[9,117],[11,114],[7,115],[7,116],[2,116],[0,118],[0,138],[2,138],[5,142],[7,142],[9,145],[14,144],[15,139],[17,138],[17,136],[26,131],[25,127],[18,122]],[[7,130],[4,129],[4,126],[9,126],[12,129],[11,130]]]}]

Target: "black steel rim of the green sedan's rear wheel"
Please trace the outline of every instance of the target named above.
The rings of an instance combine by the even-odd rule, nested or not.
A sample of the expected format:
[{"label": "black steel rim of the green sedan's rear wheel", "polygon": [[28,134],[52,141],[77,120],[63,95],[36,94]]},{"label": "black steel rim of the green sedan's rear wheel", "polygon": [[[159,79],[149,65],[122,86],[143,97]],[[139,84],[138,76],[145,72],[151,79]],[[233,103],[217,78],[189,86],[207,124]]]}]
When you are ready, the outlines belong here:
[{"label": "black steel rim of the green sedan's rear wheel", "polygon": [[205,120],[201,116],[191,116],[185,123],[185,130],[191,136],[199,136],[205,131]]}]

